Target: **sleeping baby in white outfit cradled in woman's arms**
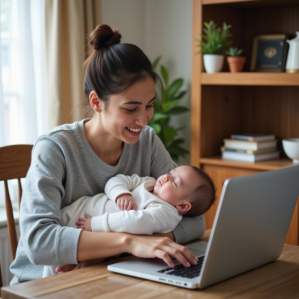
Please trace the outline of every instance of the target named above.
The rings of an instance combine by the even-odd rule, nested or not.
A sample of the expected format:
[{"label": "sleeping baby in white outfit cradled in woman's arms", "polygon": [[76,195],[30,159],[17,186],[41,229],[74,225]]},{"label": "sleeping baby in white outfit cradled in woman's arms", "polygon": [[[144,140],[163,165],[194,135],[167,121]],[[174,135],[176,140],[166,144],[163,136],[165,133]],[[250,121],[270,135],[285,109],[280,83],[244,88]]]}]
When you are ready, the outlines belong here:
[{"label": "sleeping baby in white outfit cradled in woman's arms", "polygon": [[[62,208],[62,222],[87,231],[166,234],[182,215],[205,213],[215,191],[210,176],[193,166],[176,167],[157,180],[119,174],[107,181],[105,193],[83,196]],[[56,274],[54,270],[45,266],[43,277]]]}]

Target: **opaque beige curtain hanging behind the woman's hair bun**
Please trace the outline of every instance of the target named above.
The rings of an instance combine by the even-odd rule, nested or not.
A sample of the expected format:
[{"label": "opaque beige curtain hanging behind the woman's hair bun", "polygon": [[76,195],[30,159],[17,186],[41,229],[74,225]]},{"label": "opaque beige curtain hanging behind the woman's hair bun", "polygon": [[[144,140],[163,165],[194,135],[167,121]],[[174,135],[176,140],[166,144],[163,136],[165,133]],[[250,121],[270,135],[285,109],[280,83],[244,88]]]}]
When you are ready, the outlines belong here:
[{"label": "opaque beige curtain hanging behind the woman's hair bun", "polygon": [[[87,35],[100,24],[100,0],[45,0],[48,128],[78,120]],[[74,110],[74,111],[73,111]],[[73,112],[72,112],[73,111]],[[71,113],[72,112],[72,113]]]}]

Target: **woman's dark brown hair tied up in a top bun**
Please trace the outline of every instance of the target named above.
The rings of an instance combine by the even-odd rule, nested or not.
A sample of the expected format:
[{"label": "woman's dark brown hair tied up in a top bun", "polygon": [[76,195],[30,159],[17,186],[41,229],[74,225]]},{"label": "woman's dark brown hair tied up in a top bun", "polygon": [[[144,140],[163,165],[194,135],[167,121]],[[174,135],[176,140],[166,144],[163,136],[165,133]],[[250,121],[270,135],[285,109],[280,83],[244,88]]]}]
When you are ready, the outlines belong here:
[{"label": "woman's dark brown hair tied up in a top bun", "polygon": [[89,36],[93,50],[84,63],[84,90],[86,101],[95,91],[104,104],[111,94],[125,92],[132,84],[148,76],[161,84],[161,78],[152,70],[152,64],[140,48],[132,44],[120,44],[121,35],[108,25],[97,25]]}]

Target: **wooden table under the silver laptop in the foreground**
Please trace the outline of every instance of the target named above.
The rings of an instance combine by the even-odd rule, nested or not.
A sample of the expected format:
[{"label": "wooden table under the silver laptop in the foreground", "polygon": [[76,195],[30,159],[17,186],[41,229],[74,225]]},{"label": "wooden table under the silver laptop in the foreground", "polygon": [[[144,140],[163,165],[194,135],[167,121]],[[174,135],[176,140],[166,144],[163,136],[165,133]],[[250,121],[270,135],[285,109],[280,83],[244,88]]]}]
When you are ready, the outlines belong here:
[{"label": "wooden table under the silver laptop in the foreground", "polygon": [[[201,239],[207,241],[210,230]],[[123,257],[122,260],[131,257]],[[280,258],[203,290],[190,290],[107,270],[100,265],[1,289],[7,298],[299,298],[299,246],[285,244]]]}]

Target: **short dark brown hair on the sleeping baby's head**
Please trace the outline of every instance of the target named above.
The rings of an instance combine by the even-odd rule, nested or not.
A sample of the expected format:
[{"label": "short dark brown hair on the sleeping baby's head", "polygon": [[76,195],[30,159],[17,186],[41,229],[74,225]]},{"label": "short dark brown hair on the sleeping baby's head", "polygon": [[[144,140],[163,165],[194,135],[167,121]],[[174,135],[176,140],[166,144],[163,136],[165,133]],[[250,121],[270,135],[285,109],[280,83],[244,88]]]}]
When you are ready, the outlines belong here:
[{"label": "short dark brown hair on the sleeping baby's head", "polygon": [[216,187],[211,177],[205,171],[190,166],[199,177],[199,184],[189,196],[191,209],[187,211],[186,216],[199,216],[204,214],[216,201]]}]

